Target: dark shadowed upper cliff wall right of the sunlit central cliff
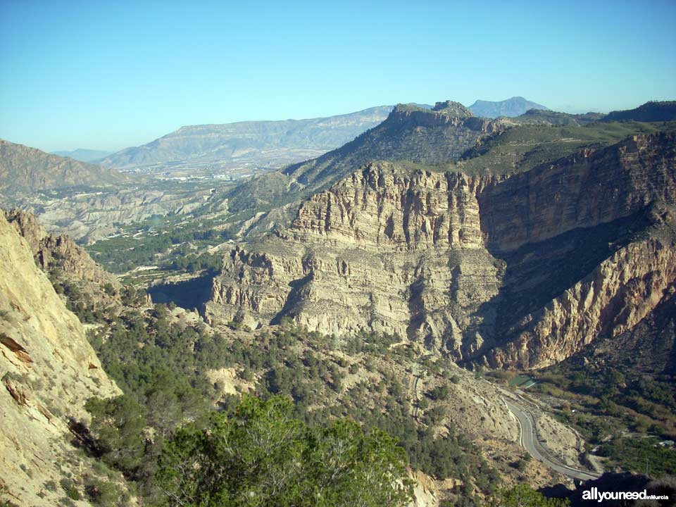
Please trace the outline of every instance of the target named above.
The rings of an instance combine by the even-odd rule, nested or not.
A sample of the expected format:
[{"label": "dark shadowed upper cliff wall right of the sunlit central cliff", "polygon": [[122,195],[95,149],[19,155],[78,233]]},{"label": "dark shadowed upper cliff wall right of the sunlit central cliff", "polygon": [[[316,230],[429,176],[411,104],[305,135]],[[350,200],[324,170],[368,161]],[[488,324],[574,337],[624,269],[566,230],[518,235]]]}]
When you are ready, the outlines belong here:
[{"label": "dark shadowed upper cliff wall right of the sunlit central cliff", "polygon": [[482,230],[494,249],[513,250],[579,227],[676,200],[676,135],[633,136],[514,175],[480,197]]}]

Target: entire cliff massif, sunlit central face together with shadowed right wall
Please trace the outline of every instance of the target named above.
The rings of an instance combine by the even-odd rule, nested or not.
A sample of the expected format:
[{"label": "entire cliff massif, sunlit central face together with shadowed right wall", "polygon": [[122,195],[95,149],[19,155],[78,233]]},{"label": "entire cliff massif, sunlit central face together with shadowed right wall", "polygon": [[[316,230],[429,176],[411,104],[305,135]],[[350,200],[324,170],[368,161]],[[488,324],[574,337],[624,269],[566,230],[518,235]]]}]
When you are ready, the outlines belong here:
[{"label": "entire cliff massif, sunlit central face together with shadowed right wall", "polygon": [[561,361],[673,284],[675,144],[636,136],[507,180],[370,163],[232,251],[207,315],[397,333],[495,366]]}]

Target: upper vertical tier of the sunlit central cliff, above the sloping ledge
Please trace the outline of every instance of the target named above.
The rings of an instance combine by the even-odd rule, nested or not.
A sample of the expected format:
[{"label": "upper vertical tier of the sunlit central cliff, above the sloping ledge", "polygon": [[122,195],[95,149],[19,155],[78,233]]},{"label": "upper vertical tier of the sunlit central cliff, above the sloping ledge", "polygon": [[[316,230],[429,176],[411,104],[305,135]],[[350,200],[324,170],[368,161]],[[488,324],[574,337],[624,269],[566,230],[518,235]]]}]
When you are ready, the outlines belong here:
[{"label": "upper vertical tier of the sunlit central cliff, above the sloping ledge", "polygon": [[370,163],[303,203],[289,232],[364,248],[482,248],[477,196],[490,182]]}]

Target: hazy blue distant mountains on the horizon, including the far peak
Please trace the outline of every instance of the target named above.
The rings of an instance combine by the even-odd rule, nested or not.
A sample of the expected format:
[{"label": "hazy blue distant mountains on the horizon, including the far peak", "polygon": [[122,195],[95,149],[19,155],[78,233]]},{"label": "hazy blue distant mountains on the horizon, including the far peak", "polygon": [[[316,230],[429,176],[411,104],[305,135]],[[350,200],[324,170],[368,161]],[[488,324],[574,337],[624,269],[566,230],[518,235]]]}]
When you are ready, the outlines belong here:
[{"label": "hazy blue distant mountains on the horizon, including the far peak", "polygon": [[[413,104],[431,109],[427,104]],[[101,159],[106,167],[137,168],[168,163],[263,165],[281,167],[321,155],[350,142],[379,125],[393,106],[377,106],[309,120],[247,121],[216,125],[188,125],[149,144],[127,148]],[[506,101],[476,101],[476,116],[518,116],[530,108],[547,108],[513,97]]]}]

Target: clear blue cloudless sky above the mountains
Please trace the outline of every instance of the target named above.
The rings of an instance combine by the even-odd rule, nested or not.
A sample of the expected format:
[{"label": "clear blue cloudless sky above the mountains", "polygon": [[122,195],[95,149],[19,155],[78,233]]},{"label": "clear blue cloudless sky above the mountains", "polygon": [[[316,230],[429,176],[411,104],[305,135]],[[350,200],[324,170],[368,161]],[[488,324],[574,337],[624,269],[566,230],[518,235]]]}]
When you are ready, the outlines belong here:
[{"label": "clear blue cloudless sky above the mountains", "polygon": [[676,99],[676,1],[0,0],[0,137],[117,150],[182,125],[398,102]]}]

